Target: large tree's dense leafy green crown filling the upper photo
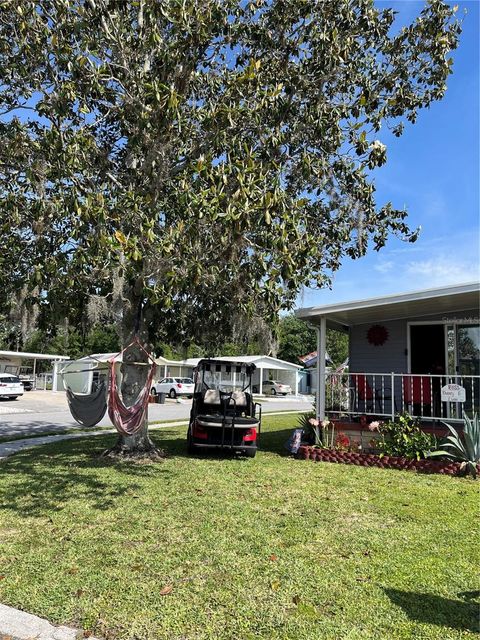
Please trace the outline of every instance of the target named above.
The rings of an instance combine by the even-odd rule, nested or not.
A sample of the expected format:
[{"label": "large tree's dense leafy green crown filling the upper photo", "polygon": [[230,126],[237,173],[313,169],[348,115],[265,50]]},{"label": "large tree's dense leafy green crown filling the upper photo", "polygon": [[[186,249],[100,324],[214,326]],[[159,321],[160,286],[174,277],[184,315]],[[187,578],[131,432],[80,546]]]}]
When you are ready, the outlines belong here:
[{"label": "large tree's dense leafy green crown filling the upper photo", "polygon": [[[444,95],[453,13],[432,0],[398,29],[373,0],[2,2],[0,296],[106,296],[124,344],[152,322],[215,341],[413,240],[372,172],[381,128]],[[122,445],[148,449],[146,425]]]}]

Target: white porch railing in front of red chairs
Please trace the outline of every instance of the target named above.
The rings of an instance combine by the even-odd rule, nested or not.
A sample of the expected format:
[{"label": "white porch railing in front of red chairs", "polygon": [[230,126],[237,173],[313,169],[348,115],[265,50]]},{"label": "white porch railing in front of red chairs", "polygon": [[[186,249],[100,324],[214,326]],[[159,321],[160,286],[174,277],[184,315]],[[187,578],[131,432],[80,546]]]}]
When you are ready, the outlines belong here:
[{"label": "white porch railing in front of red chairs", "polygon": [[[460,396],[442,399],[442,388],[457,385]],[[463,391],[462,391],[463,390]],[[464,399],[463,399],[464,398]],[[480,410],[480,376],[412,373],[327,373],[327,415],[392,418],[409,413],[422,420],[462,420]]]}]

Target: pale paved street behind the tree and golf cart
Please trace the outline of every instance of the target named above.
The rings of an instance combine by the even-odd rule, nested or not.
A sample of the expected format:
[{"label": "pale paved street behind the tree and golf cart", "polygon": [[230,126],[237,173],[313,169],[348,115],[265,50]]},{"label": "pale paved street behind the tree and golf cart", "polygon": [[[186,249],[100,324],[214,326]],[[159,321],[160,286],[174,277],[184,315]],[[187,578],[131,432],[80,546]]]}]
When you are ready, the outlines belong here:
[{"label": "pale paved street behind the tree and golf cart", "polygon": [[[149,421],[181,420],[190,415],[191,400],[149,405]],[[279,398],[262,404],[263,412],[309,411],[307,398]],[[112,426],[108,415],[98,426]],[[64,393],[30,391],[17,400],[0,400],[0,437],[61,432],[65,429],[85,429],[72,418]]]}]

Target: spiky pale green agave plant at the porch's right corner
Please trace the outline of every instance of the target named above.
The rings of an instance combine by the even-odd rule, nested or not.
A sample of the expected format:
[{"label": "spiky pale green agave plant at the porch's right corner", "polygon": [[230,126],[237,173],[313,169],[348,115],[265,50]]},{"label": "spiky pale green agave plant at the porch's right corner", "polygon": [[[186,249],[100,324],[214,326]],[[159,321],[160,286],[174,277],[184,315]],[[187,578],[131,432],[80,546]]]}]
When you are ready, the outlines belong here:
[{"label": "spiky pale green agave plant at the porch's right corner", "polygon": [[445,456],[461,462],[461,469],[477,477],[477,463],[480,462],[480,421],[477,414],[470,419],[463,414],[463,437],[446,422],[443,423],[450,435],[437,451],[430,452],[430,458]]}]

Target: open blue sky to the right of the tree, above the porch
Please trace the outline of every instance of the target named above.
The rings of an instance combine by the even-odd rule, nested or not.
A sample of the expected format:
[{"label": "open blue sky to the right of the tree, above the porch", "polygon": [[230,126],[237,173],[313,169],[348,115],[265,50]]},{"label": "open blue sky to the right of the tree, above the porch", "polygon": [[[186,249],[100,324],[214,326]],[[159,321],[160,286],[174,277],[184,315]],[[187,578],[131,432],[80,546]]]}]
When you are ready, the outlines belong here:
[{"label": "open blue sky to the right of the tree, above the porch", "polygon": [[[391,238],[380,252],[346,260],[331,290],[306,289],[298,306],[330,304],[389,293],[477,280],[479,253],[479,0],[458,0],[463,17],[453,74],[440,102],[407,123],[401,138],[380,132],[387,164],[375,171],[377,202],[406,207],[415,244]],[[411,21],[424,6],[417,0],[377,1]],[[464,10],[467,10],[464,15]]]}]

